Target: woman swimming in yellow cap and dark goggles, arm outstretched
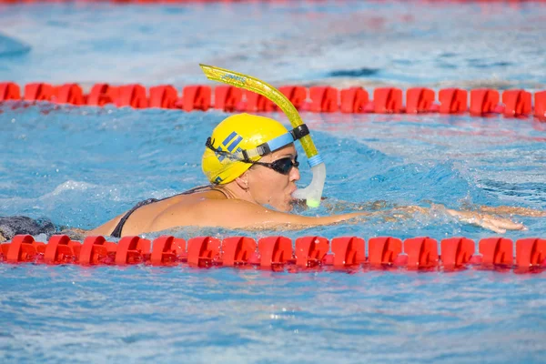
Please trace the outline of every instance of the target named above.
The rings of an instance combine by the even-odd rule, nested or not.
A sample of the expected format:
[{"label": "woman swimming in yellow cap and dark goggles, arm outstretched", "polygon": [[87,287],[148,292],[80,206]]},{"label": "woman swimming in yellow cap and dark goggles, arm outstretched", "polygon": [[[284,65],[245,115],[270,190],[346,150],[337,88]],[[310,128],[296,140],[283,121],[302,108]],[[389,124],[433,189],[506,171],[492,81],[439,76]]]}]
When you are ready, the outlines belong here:
[{"label": "woman swimming in yellow cap and dark goggles, arm outstretched", "polygon": [[[148,199],[88,235],[123,237],[172,227],[298,228],[339,223],[371,212],[354,212],[326,217],[306,217],[289,213],[297,200],[299,162],[294,141],[280,145],[258,157],[247,152],[268,146],[272,140],[292,133],[278,121],[264,116],[228,116],[208,138],[202,169],[211,185],[197,187],[161,200]],[[269,149],[269,148],[268,148]],[[247,156],[247,157],[246,157]],[[266,207],[268,206],[268,207]],[[272,208],[270,208],[272,207]],[[393,213],[427,213],[424,207],[398,207]],[[461,221],[496,232],[521,229],[509,219],[475,211],[444,209]]]}]

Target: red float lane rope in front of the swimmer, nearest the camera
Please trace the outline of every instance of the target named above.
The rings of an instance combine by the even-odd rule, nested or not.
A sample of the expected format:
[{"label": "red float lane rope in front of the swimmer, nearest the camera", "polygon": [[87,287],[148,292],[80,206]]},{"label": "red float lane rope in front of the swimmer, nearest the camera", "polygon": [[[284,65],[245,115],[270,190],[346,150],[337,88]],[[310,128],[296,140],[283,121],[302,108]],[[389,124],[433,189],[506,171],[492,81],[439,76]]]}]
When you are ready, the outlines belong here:
[{"label": "red float lane rope in front of the swimmer, nearest the camera", "polygon": [[[146,238],[124,237],[117,243],[104,237],[87,237],[83,244],[65,235],[53,236],[45,244],[30,235],[15,236],[0,246],[0,262],[117,265],[148,264],[194,268],[236,267],[298,271],[301,269],[390,269],[420,271],[456,271],[466,268],[511,269],[516,273],[538,273],[546,270],[546,239],[521,238],[514,244],[508,238],[482,238],[475,253],[470,238],[429,237],[370,238],[369,255],[366,240],[359,237],[286,237],[253,238],[197,237],[185,240],[162,236],[153,242]],[[440,254],[441,253],[441,254]],[[294,267],[294,268],[290,268]]]}]

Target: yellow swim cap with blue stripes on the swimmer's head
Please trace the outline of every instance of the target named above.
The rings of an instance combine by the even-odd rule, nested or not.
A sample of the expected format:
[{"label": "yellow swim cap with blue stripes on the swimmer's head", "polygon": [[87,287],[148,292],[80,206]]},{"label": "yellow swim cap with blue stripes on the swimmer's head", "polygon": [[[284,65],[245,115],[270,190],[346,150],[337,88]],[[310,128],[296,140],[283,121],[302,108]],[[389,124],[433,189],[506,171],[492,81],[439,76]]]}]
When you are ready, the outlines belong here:
[{"label": "yellow swim cap with blue stripes on the swimmer's head", "polygon": [[[273,139],[278,140],[279,143],[269,146],[270,150],[267,147],[267,150],[263,152],[253,151]],[[201,167],[211,183],[223,185],[233,181],[252,167],[251,163],[241,162],[241,160],[248,159],[256,162],[261,156],[293,141],[294,137],[277,120],[250,114],[228,116],[215,127],[210,140],[207,141],[210,147],[207,146],[205,149]],[[217,153],[211,147],[224,153]],[[243,151],[252,152],[243,155]]]}]

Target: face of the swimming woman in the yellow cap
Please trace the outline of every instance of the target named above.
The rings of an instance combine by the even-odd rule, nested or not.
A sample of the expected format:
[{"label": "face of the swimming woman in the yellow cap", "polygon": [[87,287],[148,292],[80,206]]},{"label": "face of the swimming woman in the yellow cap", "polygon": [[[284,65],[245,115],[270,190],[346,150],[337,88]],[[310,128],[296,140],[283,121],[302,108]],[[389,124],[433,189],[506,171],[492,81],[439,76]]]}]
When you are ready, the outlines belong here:
[{"label": "face of the swimming woman in the yellow cap", "polygon": [[[292,161],[298,157],[294,144],[261,157],[259,162],[273,163],[287,157]],[[269,167],[254,165],[248,170],[248,190],[258,204],[275,207],[278,211],[290,211],[294,200],[292,193],[296,190],[298,179],[297,167],[291,167],[288,175],[283,175]]]}]

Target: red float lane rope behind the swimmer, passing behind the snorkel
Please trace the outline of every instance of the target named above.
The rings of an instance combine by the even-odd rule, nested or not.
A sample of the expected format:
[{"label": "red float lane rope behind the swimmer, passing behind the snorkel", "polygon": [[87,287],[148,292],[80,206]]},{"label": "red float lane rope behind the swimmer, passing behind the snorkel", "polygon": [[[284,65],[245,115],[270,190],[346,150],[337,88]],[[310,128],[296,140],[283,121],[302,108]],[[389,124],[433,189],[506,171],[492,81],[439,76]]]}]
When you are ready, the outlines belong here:
[{"label": "red float lane rope behind the swimmer, passing behind the snorkel", "polygon": [[[234,86],[194,85],[185,86],[181,97],[177,88],[170,85],[151,86],[149,97],[146,87],[138,84],[111,86],[94,85],[89,94],[83,93],[77,84],[52,86],[45,83],[31,83],[24,87],[13,82],[0,83],[0,102],[24,100],[29,102],[48,101],[57,104],[75,106],[105,106],[113,104],[118,107],[134,108],[161,107],[178,108],[184,111],[207,111],[214,107],[225,112],[273,112],[278,107],[268,98],[254,92],[243,91]],[[331,86],[281,86],[279,91],[301,111],[316,113],[376,113],[376,114],[460,114],[469,112],[470,116],[529,117],[535,116],[546,121],[546,91],[532,95],[522,89],[498,90],[480,88],[463,90],[460,88],[443,88],[438,93],[426,87],[411,87],[406,92],[406,103],[402,102],[402,90],[395,87],[379,87],[373,90],[373,100],[369,92],[355,86],[339,90]],[[212,95],[214,94],[214,99]],[[470,104],[469,104],[470,98]]]}]

